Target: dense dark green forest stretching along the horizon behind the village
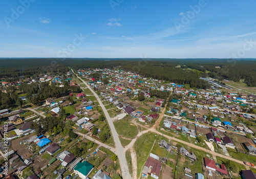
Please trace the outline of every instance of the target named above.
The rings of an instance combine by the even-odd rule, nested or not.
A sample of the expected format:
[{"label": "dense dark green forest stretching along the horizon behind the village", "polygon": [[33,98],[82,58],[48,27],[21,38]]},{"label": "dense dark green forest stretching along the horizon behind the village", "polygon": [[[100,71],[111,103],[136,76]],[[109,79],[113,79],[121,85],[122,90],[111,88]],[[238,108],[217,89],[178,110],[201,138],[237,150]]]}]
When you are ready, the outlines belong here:
[{"label": "dense dark green forest stretching along the horizon behind the village", "polygon": [[[166,80],[190,87],[207,88],[200,77],[244,79],[248,86],[256,86],[256,60],[254,59],[92,59],[92,58],[28,58],[0,59],[0,78],[16,81],[22,77],[39,78],[41,74],[61,74],[87,68],[113,68],[120,66],[125,71],[134,71],[146,77]],[[220,68],[216,68],[220,66]]]}]

